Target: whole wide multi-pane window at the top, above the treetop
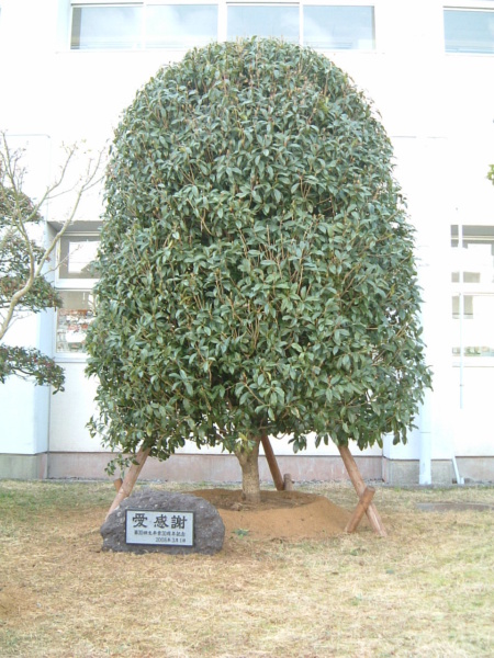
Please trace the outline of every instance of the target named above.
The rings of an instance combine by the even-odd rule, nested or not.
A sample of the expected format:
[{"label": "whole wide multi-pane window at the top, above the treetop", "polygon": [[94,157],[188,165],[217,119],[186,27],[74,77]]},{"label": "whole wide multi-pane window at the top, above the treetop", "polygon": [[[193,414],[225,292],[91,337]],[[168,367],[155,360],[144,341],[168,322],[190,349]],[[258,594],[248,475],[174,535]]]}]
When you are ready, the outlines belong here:
[{"label": "whole wide multi-pane window at the top, above the treetop", "polygon": [[307,2],[75,2],[70,47],[190,48],[215,39],[274,36],[313,48],[373,49],[374,8]]}]

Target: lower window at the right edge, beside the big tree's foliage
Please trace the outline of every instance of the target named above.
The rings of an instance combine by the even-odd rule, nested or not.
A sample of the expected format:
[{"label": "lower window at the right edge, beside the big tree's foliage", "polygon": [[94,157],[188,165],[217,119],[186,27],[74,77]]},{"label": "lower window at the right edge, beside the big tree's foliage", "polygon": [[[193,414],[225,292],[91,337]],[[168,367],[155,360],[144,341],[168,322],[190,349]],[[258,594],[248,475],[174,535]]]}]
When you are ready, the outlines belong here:
[{"label": "lower window at the right edge, beside the big tree's foliage", "polygon": [[494,226],[452,226],[451,247],[453,355],[493,358]]}]

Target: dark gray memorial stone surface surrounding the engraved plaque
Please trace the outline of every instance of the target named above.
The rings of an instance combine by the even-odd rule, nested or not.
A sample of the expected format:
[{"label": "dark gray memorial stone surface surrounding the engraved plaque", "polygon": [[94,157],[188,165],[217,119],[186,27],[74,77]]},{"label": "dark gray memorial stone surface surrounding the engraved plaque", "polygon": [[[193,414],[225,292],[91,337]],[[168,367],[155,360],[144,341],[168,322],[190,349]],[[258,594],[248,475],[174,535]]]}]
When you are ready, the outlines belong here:
[{"label": "dark gray memorial stone surface surrounding the engraved plaque", "polygon": [[[193,546],[166,546],[155,544],[127,544],[125,542],[126,510],[151,510],[162,512],[194,512]],[[199,496],[144,489],[122,501],[101,526],[103,551],[124,553],[165,553],[187,555],[203,553],[212,555],[223,547],[225,526],[216,508]]]}]

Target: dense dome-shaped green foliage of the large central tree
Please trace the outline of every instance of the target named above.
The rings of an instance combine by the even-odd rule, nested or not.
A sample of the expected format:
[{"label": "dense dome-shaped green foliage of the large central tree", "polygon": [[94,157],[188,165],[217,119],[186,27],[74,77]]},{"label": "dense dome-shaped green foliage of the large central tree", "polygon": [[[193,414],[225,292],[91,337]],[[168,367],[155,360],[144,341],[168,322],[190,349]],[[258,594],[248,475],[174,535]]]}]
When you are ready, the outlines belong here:
[{"label": "dense dome-shaped green foliage of the large central tree", "polygon": [[186,439],[405,441],[430,376],[392,147],[324,56],[215,44],[125,112],[106,180],[93,432],[166,458]]}]

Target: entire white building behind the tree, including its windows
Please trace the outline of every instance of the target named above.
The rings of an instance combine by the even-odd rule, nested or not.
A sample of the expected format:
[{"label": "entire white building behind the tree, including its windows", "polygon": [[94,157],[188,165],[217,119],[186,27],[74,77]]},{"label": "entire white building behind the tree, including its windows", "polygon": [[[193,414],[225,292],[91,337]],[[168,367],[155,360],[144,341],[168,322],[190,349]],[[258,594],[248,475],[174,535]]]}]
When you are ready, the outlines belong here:
[{"label": "entire white building behind the tree, including its windows", "polygon": [[[27,192],[55,173],[60,143],[111,139],[160,66],[191,46],[255,33],[323,50],[374,101],[417,229],[434,392],[408,444],[385,441],[358,456],[362,474],[494,479],[494,0],[0,0],[0,129],[27,145]],[[59,209],[46,209],[48,222]],[[104,477],[109,455],[86,428],[96,384],[83,374],[93,284],[85,264],[99,214],[86,203],[61,245],[68,260],[55,285],[65,308],[10,332],[56,358],[66,390],[52,396],[15,378],[0,386],[0,477]],[[293,456],[277,442],[274,451],[295,480],[344,476],[336,449]],[[146,476],[236,480],[240,470],[235,457],[190,449],[147,464]]]}]

